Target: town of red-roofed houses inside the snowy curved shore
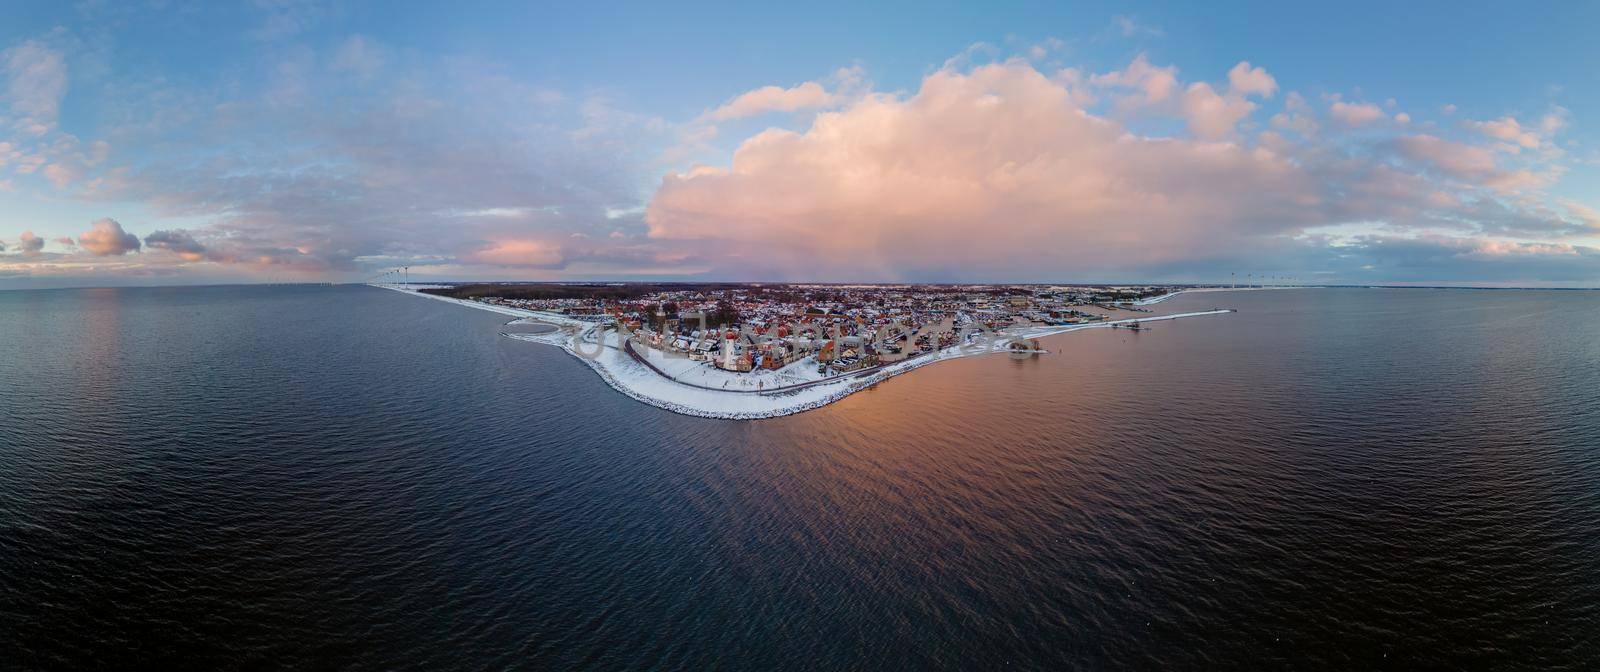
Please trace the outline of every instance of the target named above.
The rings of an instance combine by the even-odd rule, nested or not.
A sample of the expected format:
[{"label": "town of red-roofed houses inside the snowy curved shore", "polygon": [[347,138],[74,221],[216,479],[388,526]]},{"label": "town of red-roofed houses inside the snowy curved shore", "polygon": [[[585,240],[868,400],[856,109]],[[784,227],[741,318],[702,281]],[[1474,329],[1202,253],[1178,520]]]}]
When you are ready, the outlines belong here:
[{"label": "town of red-roofed houses inside the snowy curved shore", "polygon": [[[1083,325],[1149,312],[1171,286],[738,285],[618,298],[477,296],[475,301],[608,323],[626,349],[675,381],[694,368],[794,386],[893,365],[1013,326]],[[504,291],[504,294],[514,294]],[[645,358],[651,354],[659,354]],[[674,362],[677,360],[677,362]],[[763,376],[771,374],[771,376]],[[723,387],[726,376],[706,378]]]}]

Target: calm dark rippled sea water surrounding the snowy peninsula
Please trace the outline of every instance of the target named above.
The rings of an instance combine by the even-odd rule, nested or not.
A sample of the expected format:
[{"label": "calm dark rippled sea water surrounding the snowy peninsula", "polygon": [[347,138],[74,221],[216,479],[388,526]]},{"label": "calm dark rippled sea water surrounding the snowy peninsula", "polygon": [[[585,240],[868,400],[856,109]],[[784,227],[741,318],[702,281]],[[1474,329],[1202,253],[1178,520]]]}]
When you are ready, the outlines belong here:
[{"label": "calm dark rippled sea water surrounding the snowy peninsula", "polygon": [[1216,304],[736,422],[392,291],[0,293],[0,667],[1600,667],[1600,294]]}]

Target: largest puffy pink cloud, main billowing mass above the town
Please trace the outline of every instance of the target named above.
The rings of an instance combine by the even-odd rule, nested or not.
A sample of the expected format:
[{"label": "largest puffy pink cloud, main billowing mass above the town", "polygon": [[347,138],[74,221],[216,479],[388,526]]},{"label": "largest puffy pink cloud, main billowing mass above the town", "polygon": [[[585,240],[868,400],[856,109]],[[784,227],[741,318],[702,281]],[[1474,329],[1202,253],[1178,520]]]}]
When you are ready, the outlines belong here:
[{"label": "largest puffy pink cloud, main billowing mass above the town", "polygon": [[1317,198],[1286,157],[1134,138],[1032,67],[1000,64],[936,72],[915,96],[866,99],[803,134],[757,134],[731,168],[667,176],[646,222],[654,238],[731,245],[760,264],[893,277],[1170,262],[1293,227]]}]

